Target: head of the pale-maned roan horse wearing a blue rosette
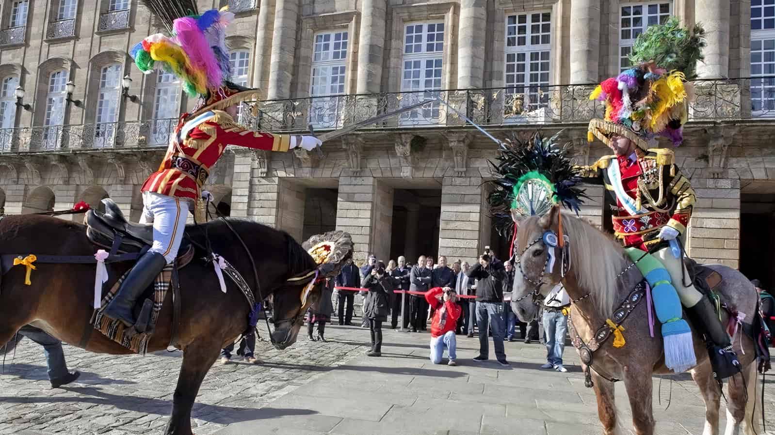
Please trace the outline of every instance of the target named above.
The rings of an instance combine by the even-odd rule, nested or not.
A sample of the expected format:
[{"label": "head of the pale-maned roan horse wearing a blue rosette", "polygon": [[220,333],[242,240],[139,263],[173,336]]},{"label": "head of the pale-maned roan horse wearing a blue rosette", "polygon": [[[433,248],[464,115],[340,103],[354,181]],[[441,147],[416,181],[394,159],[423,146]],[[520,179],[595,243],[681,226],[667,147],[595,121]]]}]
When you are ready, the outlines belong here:
[{"label": "head of the pale-maned roan horse wearing a blue rosette", "polygon": [[560,206],[543,216],[517,222],[514,245],[512,309],[522,321],[536,317],[539,304],[562,279],[562,248],[558,243]]}]

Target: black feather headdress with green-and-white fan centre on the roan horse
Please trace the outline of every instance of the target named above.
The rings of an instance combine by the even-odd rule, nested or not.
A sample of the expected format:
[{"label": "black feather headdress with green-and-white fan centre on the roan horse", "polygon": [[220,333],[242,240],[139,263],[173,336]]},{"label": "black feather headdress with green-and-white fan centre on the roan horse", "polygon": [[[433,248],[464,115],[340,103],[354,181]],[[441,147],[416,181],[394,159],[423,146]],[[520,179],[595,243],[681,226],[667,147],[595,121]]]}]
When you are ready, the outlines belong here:
[{"label": "black feather headdress with green-and-white fan centre on the roan horse", "polygon": [[559,135],[544,138],[537,132],[527,141],[506,139],[498,147],[496,162],[490,162],[494,188],[487,204],[501,234],[512,231],[512,221],[544,214],[556,204],[579,213],[587,195],[577,187],[581,179]]}]

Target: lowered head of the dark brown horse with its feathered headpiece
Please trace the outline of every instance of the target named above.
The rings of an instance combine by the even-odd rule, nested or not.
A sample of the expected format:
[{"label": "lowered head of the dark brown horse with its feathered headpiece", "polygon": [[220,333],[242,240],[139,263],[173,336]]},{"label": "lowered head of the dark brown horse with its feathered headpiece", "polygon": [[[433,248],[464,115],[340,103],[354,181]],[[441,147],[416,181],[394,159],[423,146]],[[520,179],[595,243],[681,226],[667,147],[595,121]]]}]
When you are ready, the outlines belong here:
[{"label": "lowered head of the dark brown horse with its feathered headpiece", "polygon": [[291,275],[270,296],[272,304],[271,339],[275,348],[294,344],[304,324],[304,314],[317,303],[325,278],[339,274],[353,255],[353,241],[344,231],[313,235],[303,245],[288,238],[288,267]]}]

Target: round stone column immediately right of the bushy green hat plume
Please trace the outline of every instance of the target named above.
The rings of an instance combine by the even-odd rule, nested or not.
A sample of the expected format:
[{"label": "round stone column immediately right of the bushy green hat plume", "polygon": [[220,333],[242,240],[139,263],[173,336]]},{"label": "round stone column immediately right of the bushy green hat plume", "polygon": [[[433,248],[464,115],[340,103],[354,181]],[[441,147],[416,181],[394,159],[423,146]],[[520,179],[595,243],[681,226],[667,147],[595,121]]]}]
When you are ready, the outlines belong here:
[{"label": "round stone column immediately right of the bushy green hat plume", "polygon": [[694,21],[705,29],[708,45],[702,50],[704,62],[697,63],[700,78],[720,78],[729,75],[729,1],[697,0]]}]

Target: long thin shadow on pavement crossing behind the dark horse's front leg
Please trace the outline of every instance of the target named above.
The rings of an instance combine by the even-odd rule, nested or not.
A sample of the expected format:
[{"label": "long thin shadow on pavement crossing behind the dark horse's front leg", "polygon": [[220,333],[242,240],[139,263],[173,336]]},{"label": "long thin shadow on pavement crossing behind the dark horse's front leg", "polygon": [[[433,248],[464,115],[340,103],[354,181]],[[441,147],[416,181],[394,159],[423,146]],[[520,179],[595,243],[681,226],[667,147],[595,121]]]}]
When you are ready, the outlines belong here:
[{"label": "long thin shadow on pavement crossing behind the dark horse's front leg", "polygon": [[[93,387],[64,388],[77,393],[74,397],[0,397],[5,403],[94,403],[95,405],[112,405],[126,411],[136,413],[157,414],[166,416],[172,411],[172,401],[151,399],[148,397],[118,396]],[[317,414],[311,409],[295,408],[235,408],[232,406],[208,405],[195,403],[191,417],[208,423],[229,424],[248,420],[267,420],[283,416],[305,416]]]}]

